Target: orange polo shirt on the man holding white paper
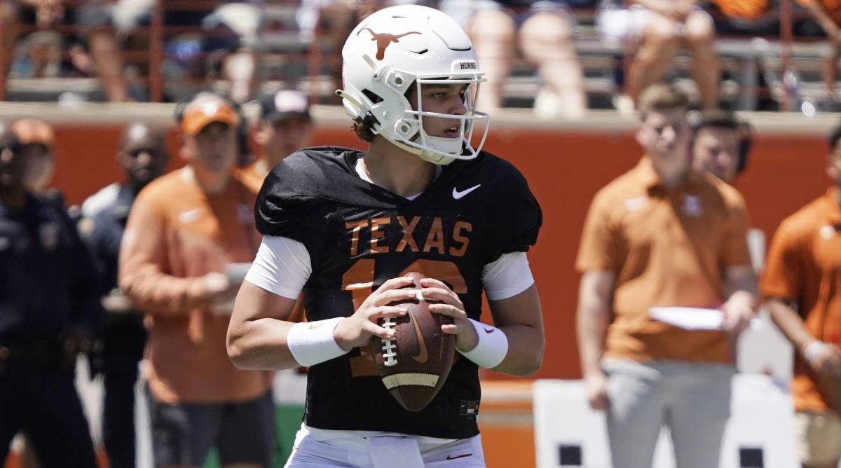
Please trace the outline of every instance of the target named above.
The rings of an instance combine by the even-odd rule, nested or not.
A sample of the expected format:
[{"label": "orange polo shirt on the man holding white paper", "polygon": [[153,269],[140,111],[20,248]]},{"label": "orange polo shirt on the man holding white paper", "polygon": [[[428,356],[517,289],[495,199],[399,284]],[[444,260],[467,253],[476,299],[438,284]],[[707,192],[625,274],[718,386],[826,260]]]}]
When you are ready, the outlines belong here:
[{"label": "orange polo shirt on the man holding white paper", "polygon": [[616,274],[605,357],[732,363],[727,334],[654,321],[655,306],[717,308],[727,266],[748,266],[741,195],[709,174],[668,190],[651,160],[598,192],[576,267]]}]

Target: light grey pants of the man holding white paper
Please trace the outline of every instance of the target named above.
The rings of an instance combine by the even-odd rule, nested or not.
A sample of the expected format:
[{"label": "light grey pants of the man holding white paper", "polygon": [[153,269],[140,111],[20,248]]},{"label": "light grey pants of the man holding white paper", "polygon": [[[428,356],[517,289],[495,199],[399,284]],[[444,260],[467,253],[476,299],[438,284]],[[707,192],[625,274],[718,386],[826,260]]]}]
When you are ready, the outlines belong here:
[{"label": "light grey pants of the man holding white paper", "polygon": [[677,468],[718,466],[730,418],[730,365],[605,360],[607,434],[616,468],[650,468],[663,425]]}]

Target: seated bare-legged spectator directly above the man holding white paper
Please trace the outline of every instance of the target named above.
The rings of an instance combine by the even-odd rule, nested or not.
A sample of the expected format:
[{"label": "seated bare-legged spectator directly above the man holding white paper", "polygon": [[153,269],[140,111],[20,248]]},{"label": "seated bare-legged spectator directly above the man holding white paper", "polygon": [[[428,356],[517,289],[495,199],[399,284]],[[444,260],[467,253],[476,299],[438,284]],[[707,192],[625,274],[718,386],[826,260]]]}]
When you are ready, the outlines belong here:
[{"label": "seated bare-legged spectator directly above the man holding white paper", "polygon": [[659,82],[681,47],[692,55],[692,76],[701,95],[701,108],[718,105],[719,66],[710,15],[696,0],[632,0],[622,8],[608,0],[596,18],[600,34],[619,45],[626,39],[640,42],[629,71],[627,92],[637,103],[639,93]]}]

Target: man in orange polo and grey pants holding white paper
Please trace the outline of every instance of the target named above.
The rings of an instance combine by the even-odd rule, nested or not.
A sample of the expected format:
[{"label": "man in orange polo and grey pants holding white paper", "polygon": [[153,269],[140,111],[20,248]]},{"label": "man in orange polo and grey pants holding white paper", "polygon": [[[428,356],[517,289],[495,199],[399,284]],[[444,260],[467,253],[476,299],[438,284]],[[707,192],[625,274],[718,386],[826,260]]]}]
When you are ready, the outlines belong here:
[{"label": "man in orange polo and grey pants holding white paper", "polygon": [[687,103],[665,84],[640,95],[645,155],[596,194],[576,262],[587,399],[622,468],[651,466],[664,424],[676,465],[718,465],[733,337],[754,313],[744,202],[692,170]]}]

